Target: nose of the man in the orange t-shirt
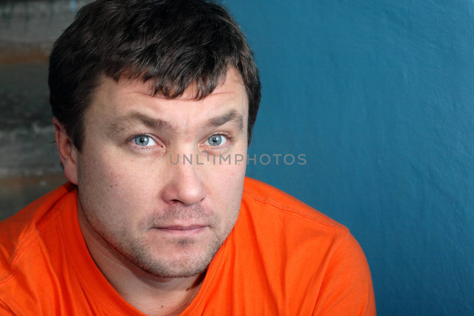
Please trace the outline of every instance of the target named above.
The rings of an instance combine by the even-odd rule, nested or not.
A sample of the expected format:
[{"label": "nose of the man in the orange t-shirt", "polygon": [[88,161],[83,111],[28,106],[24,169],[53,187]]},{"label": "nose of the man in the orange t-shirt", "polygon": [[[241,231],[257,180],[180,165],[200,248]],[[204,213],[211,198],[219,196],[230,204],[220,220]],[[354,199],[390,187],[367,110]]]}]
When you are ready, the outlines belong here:
[{"label": "nose of the man in the orange t-shirt", "polygon": [[169,164],[166,174],[166,185],[163,188],[163,199],[168,204],[181,202],[185,206],[200,203],[206,197],[206,188],[201,174],[195,164]]}]

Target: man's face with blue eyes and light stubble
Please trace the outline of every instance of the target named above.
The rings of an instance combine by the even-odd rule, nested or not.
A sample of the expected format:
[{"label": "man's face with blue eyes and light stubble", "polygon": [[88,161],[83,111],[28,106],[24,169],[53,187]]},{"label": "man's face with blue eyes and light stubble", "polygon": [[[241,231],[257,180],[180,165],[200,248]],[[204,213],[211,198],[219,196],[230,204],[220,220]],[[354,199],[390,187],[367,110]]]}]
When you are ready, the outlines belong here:
[{"label": "man's face with blue eyes and light stubble", "polygon": [[[194,87],[177,99],[151,97],[147,88],[103,79],[84,118],[79,211],[141,270],[161,278],[197,275],[237,220],[246,90],[233,68],[200,101],[193,99]],[[230,164],[219,163],[219,155],[228,154]],[[236,163],[236,154],[245,159]]]}]

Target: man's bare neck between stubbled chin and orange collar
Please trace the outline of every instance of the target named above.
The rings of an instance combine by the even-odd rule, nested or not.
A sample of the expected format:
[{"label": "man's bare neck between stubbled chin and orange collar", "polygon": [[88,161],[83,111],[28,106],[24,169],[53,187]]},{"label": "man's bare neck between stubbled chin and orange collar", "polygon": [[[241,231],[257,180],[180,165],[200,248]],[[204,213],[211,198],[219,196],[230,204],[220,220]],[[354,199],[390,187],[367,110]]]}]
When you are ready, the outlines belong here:
[{"label": "man's bare neck between stubbled chin and orange collar", "polygon": [[204,273],[179,279],[162,279],[139,269],[110,247],[89,225],[78,205],[79,226],[95,264],[130,305],[146,315],[180,314],[197,295]]}]

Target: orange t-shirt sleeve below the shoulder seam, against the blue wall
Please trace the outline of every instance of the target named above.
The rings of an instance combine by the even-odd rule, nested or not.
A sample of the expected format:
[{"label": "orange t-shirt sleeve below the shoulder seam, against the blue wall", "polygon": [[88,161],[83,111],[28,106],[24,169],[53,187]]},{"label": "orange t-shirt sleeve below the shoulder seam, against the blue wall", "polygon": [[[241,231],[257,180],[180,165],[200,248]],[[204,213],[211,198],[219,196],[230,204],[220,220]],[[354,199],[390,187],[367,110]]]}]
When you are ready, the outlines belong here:
[{"label": "orange t-shirt sleeve below the shoulder seam, against the blue wall", "polygon": [[313,315],[376,315],[369,265],[350,232],[329,260]]}]

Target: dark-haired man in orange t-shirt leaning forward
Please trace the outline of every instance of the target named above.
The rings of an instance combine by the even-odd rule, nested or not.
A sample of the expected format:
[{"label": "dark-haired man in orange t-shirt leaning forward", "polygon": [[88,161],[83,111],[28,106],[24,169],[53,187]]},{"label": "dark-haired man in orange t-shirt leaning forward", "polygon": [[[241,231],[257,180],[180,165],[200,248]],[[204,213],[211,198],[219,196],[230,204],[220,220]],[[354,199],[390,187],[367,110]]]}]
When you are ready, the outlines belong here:
[{"label": "dark-haired man in orange t-shirt leaning forward", "polygon": [[0,223],[1,315],[375,315],[345,226],[213,162],[246,157],[260,101],[218,4],[88,4],[49,87],[69,182]]}]

